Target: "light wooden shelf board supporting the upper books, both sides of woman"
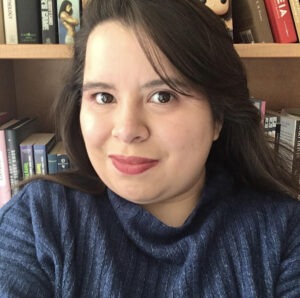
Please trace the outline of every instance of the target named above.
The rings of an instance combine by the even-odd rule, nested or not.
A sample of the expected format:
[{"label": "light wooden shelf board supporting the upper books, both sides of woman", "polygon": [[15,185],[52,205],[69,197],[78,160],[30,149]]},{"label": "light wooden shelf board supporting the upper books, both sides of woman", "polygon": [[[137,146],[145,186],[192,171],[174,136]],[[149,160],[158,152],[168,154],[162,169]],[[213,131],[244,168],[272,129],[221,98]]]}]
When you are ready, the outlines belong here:
[{"label": "light wooden shelf board supporting the upper books, both sides of woman", "polygon": [[[235,44],[242,58],[300,58],[300,44]],[[61,44],[0,45],[0,59],[69,59],[73,47]]]}]

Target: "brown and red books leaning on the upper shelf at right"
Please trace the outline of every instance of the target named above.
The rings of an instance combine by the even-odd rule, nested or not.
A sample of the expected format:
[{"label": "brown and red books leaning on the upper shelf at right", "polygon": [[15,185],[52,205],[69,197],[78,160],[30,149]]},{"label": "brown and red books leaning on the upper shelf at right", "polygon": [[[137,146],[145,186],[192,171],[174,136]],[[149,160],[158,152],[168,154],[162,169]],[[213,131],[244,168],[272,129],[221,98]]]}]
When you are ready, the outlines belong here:
[{"label": "brown and red books leaning on the upper shelf at right", "polygon": [[300,40],[299,0],[234,0],[237,43],[293,43]]}]

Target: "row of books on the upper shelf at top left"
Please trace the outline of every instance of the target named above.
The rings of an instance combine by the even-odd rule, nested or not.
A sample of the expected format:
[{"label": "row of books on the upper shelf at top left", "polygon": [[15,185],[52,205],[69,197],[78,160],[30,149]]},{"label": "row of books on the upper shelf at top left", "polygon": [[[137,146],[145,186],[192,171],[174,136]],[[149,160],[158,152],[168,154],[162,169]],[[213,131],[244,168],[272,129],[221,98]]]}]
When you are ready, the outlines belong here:
[{"label": "row of books on the upper shelf at top left", "polygon": [[80,0],[0,0],[0,43],[72,44]]}]

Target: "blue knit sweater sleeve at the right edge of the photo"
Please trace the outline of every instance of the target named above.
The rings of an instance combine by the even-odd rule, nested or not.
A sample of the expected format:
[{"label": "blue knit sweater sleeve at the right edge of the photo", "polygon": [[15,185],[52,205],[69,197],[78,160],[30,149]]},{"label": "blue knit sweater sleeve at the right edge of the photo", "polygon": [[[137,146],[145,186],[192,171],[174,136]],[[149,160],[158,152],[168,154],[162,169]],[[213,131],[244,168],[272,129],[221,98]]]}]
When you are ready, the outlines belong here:
[{"label": "blue knit sweater sleeve at the right edge of the photo", "polygon": [[282,253],[276,297],[299,297],[300,295],[300,204],[294,206],[286,230],[285,251]]}]

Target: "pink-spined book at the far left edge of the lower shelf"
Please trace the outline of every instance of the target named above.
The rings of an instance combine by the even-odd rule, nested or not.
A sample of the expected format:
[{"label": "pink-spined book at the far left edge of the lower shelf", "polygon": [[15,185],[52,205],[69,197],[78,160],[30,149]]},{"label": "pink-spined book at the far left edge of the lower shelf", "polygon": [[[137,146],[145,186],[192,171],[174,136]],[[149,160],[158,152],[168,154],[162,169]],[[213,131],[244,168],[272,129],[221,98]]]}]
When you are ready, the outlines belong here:
[{"label": "pink-spined book at the far left edge of the lower shelf", "polygon": [[18,122],[13,119],[0,126],[0,207],[11,198],[5,129],[14,127]]}]

